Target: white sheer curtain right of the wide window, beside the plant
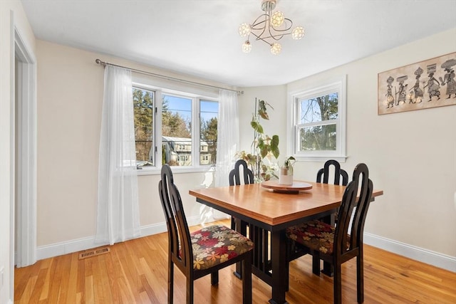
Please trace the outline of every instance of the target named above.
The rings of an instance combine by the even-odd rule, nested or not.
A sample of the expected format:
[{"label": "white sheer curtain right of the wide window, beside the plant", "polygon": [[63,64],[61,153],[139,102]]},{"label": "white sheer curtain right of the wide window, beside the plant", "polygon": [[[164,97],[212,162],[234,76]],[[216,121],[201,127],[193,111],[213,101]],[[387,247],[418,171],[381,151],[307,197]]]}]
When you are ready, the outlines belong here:
[{"label": "white sheer curtain right of the wide window, beside the plant", "polygon": [[227,186],[229,172],[234,168],[234,154],[239,151],[239,113],[237,92],[219,90],[219,120],[217,122],[217,169],[215,186]]}]

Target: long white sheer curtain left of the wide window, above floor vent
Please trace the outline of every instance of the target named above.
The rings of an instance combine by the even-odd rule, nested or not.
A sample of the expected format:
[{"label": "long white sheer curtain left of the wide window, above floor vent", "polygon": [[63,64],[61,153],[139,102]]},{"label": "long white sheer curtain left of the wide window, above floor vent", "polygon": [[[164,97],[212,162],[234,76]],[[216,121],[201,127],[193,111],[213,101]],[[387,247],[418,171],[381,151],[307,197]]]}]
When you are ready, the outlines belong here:
[{"label": "long white sheer curtain left of the wide window, above floor vent", "polygon": [[96,243],[140,236],[130,70],[107,65],[98,164]]}]

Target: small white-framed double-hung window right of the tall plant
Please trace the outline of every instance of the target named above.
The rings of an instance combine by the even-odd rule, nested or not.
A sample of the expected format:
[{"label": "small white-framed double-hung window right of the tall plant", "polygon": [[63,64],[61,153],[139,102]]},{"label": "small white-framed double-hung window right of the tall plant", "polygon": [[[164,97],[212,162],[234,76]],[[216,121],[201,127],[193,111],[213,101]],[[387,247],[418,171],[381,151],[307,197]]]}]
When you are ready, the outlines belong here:
[{"label": "small white-framed double-hung window right of the tall plant", "polygon": [[[328,157],[345,161],[345,76],[291,95],[292,154],[300,160]],[[292,131],[291,131],[292,130]]]}]

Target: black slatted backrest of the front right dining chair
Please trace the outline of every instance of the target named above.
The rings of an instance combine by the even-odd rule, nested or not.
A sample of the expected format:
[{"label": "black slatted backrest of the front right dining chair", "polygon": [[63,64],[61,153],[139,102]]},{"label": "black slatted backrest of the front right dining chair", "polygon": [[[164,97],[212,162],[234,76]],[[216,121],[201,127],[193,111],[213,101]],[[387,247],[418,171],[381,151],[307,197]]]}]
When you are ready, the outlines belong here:
[{"label": "black slatted backrest of the front right dining chair", "polygon": [[[343,192],[334,235],[334,254],[343,256],[349,251],[357,251],[363,245],[364,222],[371,204],[372,192],[373,183],[369,179],[368,167],[366,164],[358,164],[353,171],[353,180],[348,183]],[[348,231],[350,222],[352,222],[351,231]],[[350,234],[349,248],[346,246],[348,234]]]}]

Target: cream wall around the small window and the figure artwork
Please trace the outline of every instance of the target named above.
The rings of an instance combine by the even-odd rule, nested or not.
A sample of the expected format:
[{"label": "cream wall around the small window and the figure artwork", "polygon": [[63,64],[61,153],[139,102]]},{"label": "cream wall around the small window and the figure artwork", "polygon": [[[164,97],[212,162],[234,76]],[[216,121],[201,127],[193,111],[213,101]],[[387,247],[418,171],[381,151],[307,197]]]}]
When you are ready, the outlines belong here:
[{"label": "cream wall around the small window and the figure artwork", "polygon": [[[365,231],[375,245],[424,261],[437,253],[456,271],[456,106],[377,115],[377,75],[385,70],[456,51],[456,28],[420,41],[398,46],[287,85],[293,92],[318,86],[329,78],[347,75],[348,172],[366,162],[376,189],[384,195],[371,204]],[[417,51],[419,50],[419,51]],[[277,89],[277,90],[276,90]],[[286,98],[281,90],[244,88],[244,108],[253,108],[261,96],[273,105],[272,131],[281,135],[281,156],[286,146]],[[271,95],[269,95],[271,94]],[[281,93],[280,93],[281,94]],[[426,101],[427,102],[427,101]],[[251,110],[241,112],[242,130]],[[244,149],[249,133],[241,133]],[[247,137],[247,139],[246,139]],[[299,162],[296,177],[314,180],[323,162]],[[404,248],[413,250],[405,253]],[[407,251],[408,249],[404,249]],[[418,255],[418,256],[415,256]],[[419,258],[418,258],[419,259]],[[430,261],[428,261],[430,262]],[[444,266],[442,266],[444,267]]]}]

